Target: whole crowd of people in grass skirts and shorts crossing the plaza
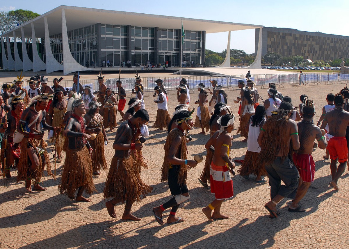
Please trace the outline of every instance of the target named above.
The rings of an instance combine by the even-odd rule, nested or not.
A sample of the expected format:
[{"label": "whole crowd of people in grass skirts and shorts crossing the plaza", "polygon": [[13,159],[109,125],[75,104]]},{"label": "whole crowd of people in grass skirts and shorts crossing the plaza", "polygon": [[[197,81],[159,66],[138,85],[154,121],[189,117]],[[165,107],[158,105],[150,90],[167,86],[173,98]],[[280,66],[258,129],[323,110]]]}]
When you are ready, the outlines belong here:
[{"label": "whole crowd of people in grass skirts and shorts crossing the plaza", "polygon": [[[10,178],[13,167],[18,171],[17,181],[24,181],[29,192],[46,190],[40,185],[45,165],[47,174],[55,177],[44,140],[44,130],[49,130],[48,141],[54,144],[54,169],[64,158],[62,151],[65,152],[59,193],[76,201],[90,202],[83,192],[96,191],[92,175],[99,175],[108,168],[104,154],[104,147],[109,142],[107,133],[118,126],[103,197],[110,199],[105,205],[111,217],[117,217],[114,206],[122,202],[125,203],[122,219],[140,220],[131,213],[132,205],[153,190],[141,179],[142,168],[148,167],[142,148],[149,136],[142,78],[136,76],[135,97],[128,102],[122,82],[118,80],[117,89],[113,91],[104,84],[102,72],[97,76],[98,91],[93,93],[90,86],[79,84],[78,73],[73,75],[71,91],[66,92],[59,85],[61,79],[55,78],[53,87],[47,86],[46,81],[28,80],[29,91],[21,86],[22,76],[13,84],[2,85],[3,177]],[[176,213],[180,204],[190,198],[186,185],[188,170],[200,162],[187,158],[187,143],[192,140],[190,130],[194,127],[201,128],[199,134],[209,132],[210,135],[205,145],[205,165],[198,180],[203,187],[210,187],[215,199],[202,212],[210,221],[228,218],[221,213],[224,200],[233,196],[231,174],[235,176],[231,155],[235,115],[228,106],[228,95],[216,80],[210,81],[208,89],[203,83],[196,85],[198,100],[194,105],[198,106],[194,121],[195,107],[189,106],[191,99],[185,78],[177,87],[178,106],[172,111],[168,107],[169,96],[164,82],[158,79],[155,83],[153,96],[157,114],[153,128],[159,132],[165,129],[168,133],[160,180],[168,182],[172,195],[169,201],[153,208],[155,220],[162,225],[163,211],[171,208],[166,222],[184,221]],[[269,85],[265,101],[253,80],[241,79],[238,86],[240,96],[233,101],[239,103],[237,133],[245,138],[247,150],[244,160],[235,160],[242,163],[237,173],[246,179],[254,174],[255,181],[261,184],[268,176],[270,201],[265,208],[269,217],[278,217],[276,206],[283,198],[292,199],[288,211],[306,211],[299,201],[314,181],[315,163],[311,154],[316,147],[326,149],[324,158],[331,159],[330,186],[339,190],[338,180],[348,161],[349,89],[345,87],[336,95],[327,95],[328,105],[322,108],[322,115],[314,125],[315,105],[307,95],[301,95],[299,107],[294,107],[291,98],[283,96],[274,84]],[[128,108],[124,112],[126,102]],[[119,125],[117,111],[121,116]]]}]

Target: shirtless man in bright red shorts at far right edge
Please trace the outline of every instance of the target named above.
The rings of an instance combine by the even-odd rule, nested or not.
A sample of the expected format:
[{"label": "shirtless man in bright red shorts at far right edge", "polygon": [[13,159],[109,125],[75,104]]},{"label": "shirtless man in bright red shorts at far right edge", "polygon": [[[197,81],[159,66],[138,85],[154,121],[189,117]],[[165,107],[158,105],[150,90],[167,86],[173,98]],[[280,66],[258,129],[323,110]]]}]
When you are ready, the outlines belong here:
[{"label": "shirtless man in bright red shorts at far right edge", "polygon": [[[337,93],[334,97],[335,108],[326,112],[324,121],[322,121],[321,129],[325,129],[328,124],[328,152],[331,158],[331,175],[332,181],[330,185],[339,190],[338,179],[343,174],[346,163],[348,161],[348,147],[345,138],[347,126],[349,125],[349,112],[343,110],[343,95]],[[331,135],[330,135],[331,134]],[[337,168],[337,159],[339,162]]]}]

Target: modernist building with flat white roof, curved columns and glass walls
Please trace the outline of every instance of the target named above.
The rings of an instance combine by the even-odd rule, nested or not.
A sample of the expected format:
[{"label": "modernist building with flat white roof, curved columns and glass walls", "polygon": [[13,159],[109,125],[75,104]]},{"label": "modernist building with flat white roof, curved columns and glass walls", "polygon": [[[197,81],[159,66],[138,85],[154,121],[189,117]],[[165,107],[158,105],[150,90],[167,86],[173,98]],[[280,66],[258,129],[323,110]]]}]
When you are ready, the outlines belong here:
[{"label": "modernist building with flat white roof, curved columns and glass walls", "polygon": [[[185,31],[183,45],[182,22]],[[168,61],[170,66],[179,66],[180,49],[182,60],[203,64],[207,33],[262,27],[59,6],[2,35],[2,38],[8,38],[7,42],[1,42],[2,51],[5,51],[5,46],[10,48],[7,54],[2,53],[2,64],[4,69],[9,70],[46,70],[47,73],[63,70],[65,75],[89,70],[85,67],[87,61],[90,67],[94,62],[98,68],[108,60],[115,67],[128,60],[132,66],[147,61],[153,64]],[[32,53],[27,53],[25,42],[21,44],[14,38],[22,38],[22,41],[32,38]]]}]

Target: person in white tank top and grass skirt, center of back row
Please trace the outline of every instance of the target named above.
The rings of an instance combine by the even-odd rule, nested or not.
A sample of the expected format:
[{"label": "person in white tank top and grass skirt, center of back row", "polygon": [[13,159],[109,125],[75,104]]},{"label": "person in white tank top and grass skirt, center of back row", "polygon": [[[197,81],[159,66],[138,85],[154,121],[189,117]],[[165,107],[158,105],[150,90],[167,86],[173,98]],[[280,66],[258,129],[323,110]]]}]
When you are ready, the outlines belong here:
[{"label": "person in white tank top and grass skirt, center of back row", "polygon": [[171,121],[168,108],[167,108],[167,99],[164,92],[162,92],[160,86],[154,88],[155,93],[157,93],[157,100],[154,100],[157,103],[157,112],[156,120],[153,125],[153,128],[158,128],[157,131],[163,131],[163,127],[167,127]]}]

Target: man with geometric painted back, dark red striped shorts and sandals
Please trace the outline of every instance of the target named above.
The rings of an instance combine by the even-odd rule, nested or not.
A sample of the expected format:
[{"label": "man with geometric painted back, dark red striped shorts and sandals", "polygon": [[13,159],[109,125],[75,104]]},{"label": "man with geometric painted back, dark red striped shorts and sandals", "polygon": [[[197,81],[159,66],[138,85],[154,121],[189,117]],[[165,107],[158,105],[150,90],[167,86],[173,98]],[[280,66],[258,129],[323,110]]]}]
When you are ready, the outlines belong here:
[{"label": "man with geometric painted back, dark red striped shorts and sandals", "polygon": [[296,197],[288,209],[290,212],[305,211],[298,203],[314,181],[315,163],[311,154],[315,139],[318,141],[320,149],[325,149],[327,146],[320,128],[311,122],[315,115],[314,102],[305,97],[300,111],[303,116],[303,120],[297,124],[300,147],[293,154],[293,162],[299,172],[300,179]]}]

